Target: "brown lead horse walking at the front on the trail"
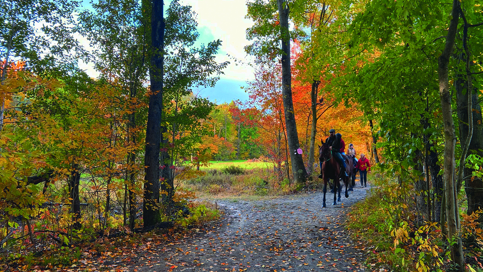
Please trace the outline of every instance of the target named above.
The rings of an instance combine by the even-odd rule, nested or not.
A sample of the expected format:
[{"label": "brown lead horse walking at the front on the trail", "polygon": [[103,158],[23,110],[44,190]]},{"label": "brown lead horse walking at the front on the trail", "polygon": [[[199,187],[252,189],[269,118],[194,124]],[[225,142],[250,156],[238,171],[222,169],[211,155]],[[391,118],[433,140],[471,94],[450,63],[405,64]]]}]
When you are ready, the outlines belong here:
[{"label": "brown lead horse walking at the front on the trail", "polygon": [[[320,175],[319,178],[322,177],[324,180],[324,203],[322,207],[326,206],[326,193],[327,193],[327,183],[329,179],[334,180],[334,203],[333,205],[337,205],[337,192],[339,192],[339,199],[341,201],[341,184],[339,183],[339,179],[342,178],[342,181],[345,184],[345,197],[349,197],[349,193],[347,192],[347,186],[349,184],[349,178],[345,176],[345,174],[341,174],[341,166],[337,159],[333,156],[329,144],[322,143],[322,146],[319,146],[319,161],[320,161]],[[347,167],[349,168],[349,167]],[[349,168],[351,169],[351,168]],[[339,187],[340,190],[337,188]]]}]

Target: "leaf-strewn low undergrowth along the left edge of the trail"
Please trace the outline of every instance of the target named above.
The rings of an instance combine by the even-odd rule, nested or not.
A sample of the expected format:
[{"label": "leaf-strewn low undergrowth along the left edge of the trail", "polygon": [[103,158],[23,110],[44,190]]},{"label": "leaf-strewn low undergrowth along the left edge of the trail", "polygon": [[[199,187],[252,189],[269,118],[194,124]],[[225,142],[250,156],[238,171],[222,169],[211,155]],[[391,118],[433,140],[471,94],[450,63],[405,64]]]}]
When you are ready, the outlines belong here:
[{"label": "leaf-strewn low undergrowth along the left edge of the trail", "polygon": [[[64,235],[45,235],[45,232],[33,231],[36,244],[24,236],[23,239],[9,241],[10,248],[16,250],[0,255],[0,271],[33,271],[35,269],[47,269],[64,271],[64,268],[72,268],[81,265],[89,258],[99,258],[101,256],[111,256],[115,252],[135,250],[136,246],[144,246],[147,241],[152,243],[163,243],[166,237],[184,235],[189,229],[201,228],[209,221],[218,219],[219,210],[212,203],[207,201],[193,201],[196,197],[193,192],[178,189],[173,200],[174,214],[170,218],[162,216],[162,220],[173,220],[174,227],[171,229],[156,229],[146,233],[133,233],[128,228],[117,226],[118,228],[108,229],[105,235],[119,233],[113,238],[99,236],[97,233],[76,234],[73,243],[55,243],[49,238],[56,238],[56,241],[68,243],[67,236]],[[32,220],[35,223],[35,220]],[[159,239],[153,240],[151,237]],[[163,238],[164,237],[164,238]],[[53,239],[52,238],[52,239]],[[53,243],[54,242],[54,243]],[[122,253],[122,252],[121,252]],[[85,263],[84,263],[85,264]]]}]

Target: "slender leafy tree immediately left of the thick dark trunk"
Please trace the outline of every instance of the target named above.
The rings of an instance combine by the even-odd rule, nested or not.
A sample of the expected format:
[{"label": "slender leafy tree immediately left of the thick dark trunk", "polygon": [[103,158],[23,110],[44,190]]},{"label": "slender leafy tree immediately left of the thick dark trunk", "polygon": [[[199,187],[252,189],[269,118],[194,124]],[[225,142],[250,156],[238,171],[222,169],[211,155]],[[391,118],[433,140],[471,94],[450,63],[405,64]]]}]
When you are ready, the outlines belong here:
[{"label": "slender leafy tree immediately left of the thick dark trunk", "polygon": [[[93,4],[93,10],[85,10],[79,14],[81,33],[94,47],[93,52],[87,55],[86,61],[95,64],[101,78],[116,79],[123,88],[131,102],[132,111],[128,114],[129,122],[126,124],[129,142],[132,146],[141,142],[140,131],[137,124],[143,123],[145,115],[140,112],[140,101],[144,99],[147,66],[146,31],[149,30],[145,17],[141,13],[140,3],[125,0],[121,5],[109,0],[100,0]],[[127,157],[125,194],[129,199],[129,228],[134,229],[137,200],[135,196],[136,176],[139,172],[136,167],[139,150],[133,149]]]}]

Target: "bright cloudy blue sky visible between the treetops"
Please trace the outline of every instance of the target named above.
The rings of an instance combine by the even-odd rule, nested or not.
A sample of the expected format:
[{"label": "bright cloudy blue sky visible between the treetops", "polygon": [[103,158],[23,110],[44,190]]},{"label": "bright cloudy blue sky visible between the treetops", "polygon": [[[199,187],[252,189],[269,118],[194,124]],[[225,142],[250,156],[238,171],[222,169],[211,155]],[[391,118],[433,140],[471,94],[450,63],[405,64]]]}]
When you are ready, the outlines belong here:
[{"label": "bright cloudy blue sky visible between the treetops", "polygon": [[[169,0],[165,0],[165,10],[168,8],[169,2]],[[224,70],[225,74],[220,76],[215,87],[200,87],[194,90],[195,94],[207,97],[218,104],[238,99],[248,100],[248,94],[241,89],[241,86],[246,86],[245,82],[253,79],[253,69],[240,63],[251,61],[251,57],[246,56],[243,46],[249,44],[245,39],[245,30],[253,23],[251,20],[245,19],[245,0],[180,0],[180,3],[192,6],[198,15],[199,42],[207,44],[220,39],[223,42],[216,60],[218,62],[230,61]],[[78,38],[83,40],[82,37]],[[230,59],[228,55],[241,61],[239,65],[235,65],[233,59]],[[79,63],[79,67],[86,70],[89,75],[96,76],[92,65]]]}]

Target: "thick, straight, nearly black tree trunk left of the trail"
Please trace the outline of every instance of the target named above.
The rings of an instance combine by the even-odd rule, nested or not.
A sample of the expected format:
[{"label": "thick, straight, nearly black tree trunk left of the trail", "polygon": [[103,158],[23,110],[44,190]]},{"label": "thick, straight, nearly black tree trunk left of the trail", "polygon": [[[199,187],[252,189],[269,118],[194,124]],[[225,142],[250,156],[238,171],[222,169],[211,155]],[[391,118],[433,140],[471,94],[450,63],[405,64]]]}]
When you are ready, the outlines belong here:
[{"label": "thick, straight, nearly black tree trunk left of the trail", "polygon": [[151,11],[151,65],[149,78],[148,119],[146,125],[146,150],[144,154],[144,197],[142,203],[144,228],[156,225],[159,214],[159,147],[161,142],[161,113],[163,110],[163,1],[153,0]]}]

